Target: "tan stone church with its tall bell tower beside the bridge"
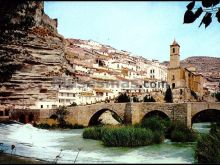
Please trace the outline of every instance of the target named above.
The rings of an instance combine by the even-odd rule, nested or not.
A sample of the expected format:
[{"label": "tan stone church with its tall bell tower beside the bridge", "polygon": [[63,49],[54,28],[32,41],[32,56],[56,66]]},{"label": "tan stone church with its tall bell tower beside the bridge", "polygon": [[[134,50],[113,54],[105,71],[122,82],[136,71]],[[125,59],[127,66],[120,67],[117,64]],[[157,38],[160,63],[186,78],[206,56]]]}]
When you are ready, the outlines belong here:
[{"label": "tan stone church with its tall bell tower beside the bridge", "polygon": [[170,45],[167,81],[172,89],[174,102],[202,100],[204,77],[196,73],[195,68],[180,66],[180,45],[175,40]]}]

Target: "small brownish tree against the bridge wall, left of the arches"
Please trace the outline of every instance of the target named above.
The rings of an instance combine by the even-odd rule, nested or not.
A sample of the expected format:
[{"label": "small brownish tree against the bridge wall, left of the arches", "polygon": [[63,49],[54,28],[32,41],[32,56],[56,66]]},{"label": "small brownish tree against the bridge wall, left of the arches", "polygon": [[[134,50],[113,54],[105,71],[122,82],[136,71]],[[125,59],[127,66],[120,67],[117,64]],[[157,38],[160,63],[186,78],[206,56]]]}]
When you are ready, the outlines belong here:
[{"label": "small brownish tree against the bridge wall, left of the arches", "polygon": [[69,111],[67,110],[65,106],[61,106],[56,110],[54,116],[57,116],[57,120],[61,128],[63,128],[66,125],[65,119],[68,114],[69,114]]}]

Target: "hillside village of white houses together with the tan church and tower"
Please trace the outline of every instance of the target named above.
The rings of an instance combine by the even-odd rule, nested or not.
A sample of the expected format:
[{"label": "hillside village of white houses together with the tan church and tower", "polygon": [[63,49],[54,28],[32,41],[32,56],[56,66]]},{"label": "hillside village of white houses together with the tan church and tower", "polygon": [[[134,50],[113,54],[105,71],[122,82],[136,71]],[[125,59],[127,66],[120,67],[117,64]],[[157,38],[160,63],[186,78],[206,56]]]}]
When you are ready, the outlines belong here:
[{"label": "hillside village of white houses together with the tan church and tower", "polygon": [[190,101],[192,91],[203,100],[206,88],[211,87],[207,90],[212,91],[217,86],[204,83],[204,77],[194,68],[180,66],[180,46],[176,41],[170,45],[168,67],[158,60],[150,61],[92,40],[67,41],[66,59],[74,76],[57,77],[62,81],[54,83],[56,99],[38,100],[31,108],[51,109],[63,105],[110,102],[124,92],[131,98],[143,98],[155,92],[164,94],[167,85],[172,88],[174,102]]}]

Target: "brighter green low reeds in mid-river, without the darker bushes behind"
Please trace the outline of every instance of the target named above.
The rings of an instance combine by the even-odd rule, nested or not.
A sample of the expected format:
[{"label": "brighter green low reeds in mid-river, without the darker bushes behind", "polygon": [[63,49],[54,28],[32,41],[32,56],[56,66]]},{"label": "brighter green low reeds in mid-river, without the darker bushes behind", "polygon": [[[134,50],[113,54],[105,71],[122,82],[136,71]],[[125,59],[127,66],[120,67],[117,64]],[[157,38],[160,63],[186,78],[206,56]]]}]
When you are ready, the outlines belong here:
[{"label": "brighter green low reeds in mid-river, without the darker bushes behind", "polygon": [[102,140],[105,146],[135,147],[154,143],[154,135],[150,129],[133,126],[99,126],[86,128],[83,138]]}]

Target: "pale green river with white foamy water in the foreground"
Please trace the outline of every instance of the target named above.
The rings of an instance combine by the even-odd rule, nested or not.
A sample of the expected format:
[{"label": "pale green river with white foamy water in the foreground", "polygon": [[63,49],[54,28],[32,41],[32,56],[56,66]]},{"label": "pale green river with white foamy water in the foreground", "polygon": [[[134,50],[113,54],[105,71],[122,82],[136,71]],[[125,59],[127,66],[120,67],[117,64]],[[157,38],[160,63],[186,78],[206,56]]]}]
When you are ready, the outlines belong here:
[{"label": "pale green river with white foamy water in the foreground", "polygon": [[[197,123],[194,129],[209,131],[209,123]],[[173,143],[136,148],[105,147],[101,141],[83,139],[83,129],[44,130],[30,124],[0,124],[0,149],[14,154],[57,163],[194,163],[195,143]],[[79,152],[79,148],[81,151]],[[61,152],[62,149],[62,152]]]}]

